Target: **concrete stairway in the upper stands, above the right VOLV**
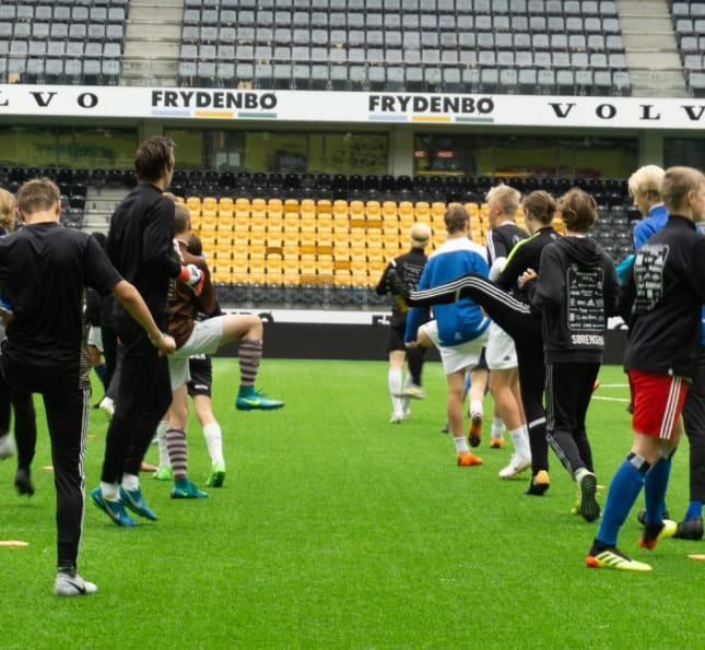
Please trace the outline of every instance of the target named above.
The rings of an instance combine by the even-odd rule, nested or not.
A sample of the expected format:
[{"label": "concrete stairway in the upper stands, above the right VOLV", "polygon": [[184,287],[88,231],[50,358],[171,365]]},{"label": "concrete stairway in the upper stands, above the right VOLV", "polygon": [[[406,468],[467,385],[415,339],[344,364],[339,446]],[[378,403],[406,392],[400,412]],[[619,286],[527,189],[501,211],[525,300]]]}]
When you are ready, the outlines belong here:
[{"label": "concrete stairway in the upper stands, above the right VOLV", "polygon": [[624,51],[635,97],[688,97],[666,0],[618,0]]}]

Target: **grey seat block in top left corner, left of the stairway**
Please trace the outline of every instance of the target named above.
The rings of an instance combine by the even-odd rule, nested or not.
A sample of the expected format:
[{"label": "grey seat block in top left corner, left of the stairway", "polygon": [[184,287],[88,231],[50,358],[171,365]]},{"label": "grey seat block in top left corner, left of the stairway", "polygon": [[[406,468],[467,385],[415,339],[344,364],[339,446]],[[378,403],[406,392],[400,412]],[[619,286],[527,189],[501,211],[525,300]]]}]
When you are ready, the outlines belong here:
[{"label": "grey seat block in top left corner, left of the stairway", "polygon": [[3,0],[0,82],[118,84],[128,5],[128,0]]}]

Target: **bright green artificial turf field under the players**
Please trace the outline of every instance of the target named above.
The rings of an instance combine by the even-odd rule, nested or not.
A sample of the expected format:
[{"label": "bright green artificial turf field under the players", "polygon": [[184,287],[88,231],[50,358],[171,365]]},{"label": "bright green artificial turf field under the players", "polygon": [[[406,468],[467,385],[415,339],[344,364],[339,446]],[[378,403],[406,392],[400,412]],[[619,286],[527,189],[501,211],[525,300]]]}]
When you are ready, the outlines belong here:
[{"label": "bright green artificial turf field under the players", "polygon": [[[214,409],[228,474],[210,498],[177,501],[142,475],[156,523],[120,529],[86,504],[80,572],[94,596],[57,599],[54,487],[43,410],[37,492],[12,487],[0,463],[0,647],[703,647],[704,542],[637,547],[635,511],[620,546],[650,574],[587,569],[597,523],[568,513],[575,487],[551,457],[551,489],[501,481],[510,445],[458,468],[445,422],[445,379],[427,364],[428,397],[388,423],[387,364],[266,359],[260,383],[286,401],[271,413],[232,406],[237,366],[214,362]],[[631,441],[625,376],[604,367],[589,411],[600,483]],[[619,386],[611,386],[619,385]],[[622,400],[622,401],[620,401]],[[95,401],[95,400],[94,400]],[[490,399],[485,413],[491,413]],[[97,485],[107,423],[91,412],[86,488]],[[189,425],[189,474],[209,468]],[[682,517],[688,446],[674,458],[668,504]],[[156,462],[153,448],[148,460]],[[601,499],[603,501],[603,497]],[[641,500],[639,500],[641,503]]]}]

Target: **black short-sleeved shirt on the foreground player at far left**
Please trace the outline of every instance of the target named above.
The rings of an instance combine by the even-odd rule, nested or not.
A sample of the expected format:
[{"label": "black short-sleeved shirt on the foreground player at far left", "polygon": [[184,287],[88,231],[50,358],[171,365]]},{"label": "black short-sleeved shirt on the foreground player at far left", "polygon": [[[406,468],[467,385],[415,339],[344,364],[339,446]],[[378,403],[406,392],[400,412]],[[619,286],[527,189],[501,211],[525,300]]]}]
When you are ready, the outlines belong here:
[{"label": "black short-sleeved shirt on the foreground player at far left", "polygon": [[38,223],[0,238],[0,287],[14,314],[2,353],[32,366],[74,366],[85,288],[105,293],[120,280],[87,233]]}]

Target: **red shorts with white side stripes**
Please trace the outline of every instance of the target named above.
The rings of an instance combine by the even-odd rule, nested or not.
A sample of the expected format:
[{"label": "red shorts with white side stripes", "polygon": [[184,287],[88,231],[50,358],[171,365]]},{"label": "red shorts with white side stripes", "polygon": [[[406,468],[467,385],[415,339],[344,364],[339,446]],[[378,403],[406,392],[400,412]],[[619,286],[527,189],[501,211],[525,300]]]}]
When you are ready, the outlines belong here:
[{"label": "red shorts with white side stripes", "polygon": [[682,377],[630,370],[632,428],[637,434],[670,440],[688,394],[690,381]]}]

